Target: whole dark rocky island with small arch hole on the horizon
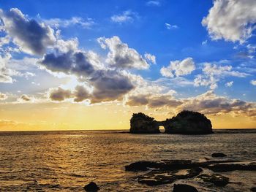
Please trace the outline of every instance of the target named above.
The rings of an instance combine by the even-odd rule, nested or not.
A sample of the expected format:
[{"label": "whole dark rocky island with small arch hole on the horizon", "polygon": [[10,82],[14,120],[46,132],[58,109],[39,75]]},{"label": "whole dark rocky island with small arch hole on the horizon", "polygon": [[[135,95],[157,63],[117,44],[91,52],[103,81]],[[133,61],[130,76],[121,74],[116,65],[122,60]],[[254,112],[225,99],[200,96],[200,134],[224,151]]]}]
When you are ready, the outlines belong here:
[{"label": "whole dark rocky island with small arch hole on the horizon", "polygon": [[129,132],[132,134],[158,134],[159,126],[165,128],[165,134],[212,134],[211,120],[200,112],[184,110],[173,118],[163,121],[143,114],[134,113],[130,120]]}]

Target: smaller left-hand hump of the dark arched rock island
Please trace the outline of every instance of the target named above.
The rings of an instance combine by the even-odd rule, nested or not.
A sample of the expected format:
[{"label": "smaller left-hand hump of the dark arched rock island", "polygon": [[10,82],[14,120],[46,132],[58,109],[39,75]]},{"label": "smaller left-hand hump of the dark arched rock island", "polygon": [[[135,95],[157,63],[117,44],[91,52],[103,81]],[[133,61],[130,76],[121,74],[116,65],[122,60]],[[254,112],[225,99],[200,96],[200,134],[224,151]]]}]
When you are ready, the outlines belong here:
[{"label": "smaller left-hand hump of the dark arched rock island", "polygon": [[157,120],[142,112],[134,113],[130,120],[129,132],[132,134],[159,134]]}]

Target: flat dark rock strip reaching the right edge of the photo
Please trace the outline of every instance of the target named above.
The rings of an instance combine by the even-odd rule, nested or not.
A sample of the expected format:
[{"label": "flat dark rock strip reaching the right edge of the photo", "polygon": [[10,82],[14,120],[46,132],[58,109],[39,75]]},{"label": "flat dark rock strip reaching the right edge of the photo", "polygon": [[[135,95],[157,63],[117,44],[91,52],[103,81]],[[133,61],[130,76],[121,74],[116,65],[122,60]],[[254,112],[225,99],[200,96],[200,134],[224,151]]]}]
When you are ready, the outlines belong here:
[{"label": "flat dark rock strip reaching the right edge of the photo", "polygon": [[211,164],[207,166],[208,169],[211,169],[214,172],[232,172],[236,170],[242,170],[242,171],[256,171],[256,163],[233,163],[233,164]]}]

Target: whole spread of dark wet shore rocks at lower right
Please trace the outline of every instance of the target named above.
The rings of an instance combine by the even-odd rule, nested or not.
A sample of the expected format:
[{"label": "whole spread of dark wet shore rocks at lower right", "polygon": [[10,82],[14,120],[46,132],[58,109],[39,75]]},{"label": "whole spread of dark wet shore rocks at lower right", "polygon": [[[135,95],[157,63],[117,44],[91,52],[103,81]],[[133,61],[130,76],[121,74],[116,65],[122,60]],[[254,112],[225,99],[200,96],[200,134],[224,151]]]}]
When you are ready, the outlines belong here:
[{"label": "whole spread of dark wet shore rocks at lower right", "polygon": [[[222,156],[224,156],[223,154]],[[137,161],[125,166],[128,172],[142,172],[136,180],[144,185],[163,185],[175,183],[179,180],[189,179],[201,180],[217,187],[232,183],[229,177],[222,172],[232,171],[256,171],[256,162],[233,161],[219,157],[211,161],[190,160],[162,160],[162,161]],[[174,185],[173,191],[197,191],[190,185]]]}]

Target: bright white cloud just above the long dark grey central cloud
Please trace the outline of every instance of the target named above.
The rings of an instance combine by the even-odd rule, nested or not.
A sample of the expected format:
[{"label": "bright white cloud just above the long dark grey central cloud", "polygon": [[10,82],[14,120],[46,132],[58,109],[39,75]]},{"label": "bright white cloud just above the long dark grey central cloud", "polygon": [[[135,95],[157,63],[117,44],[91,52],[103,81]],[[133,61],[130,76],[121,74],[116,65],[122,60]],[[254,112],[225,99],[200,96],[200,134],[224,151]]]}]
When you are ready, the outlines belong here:
[{"label": "bright white cloud just above the long dark grey central cloud", "polygon": [[119,37],[97,39],[103,49],[109,49],[106,62],[110,66],[122,69],[148,69],[149,65],[145,59],[135,50],[129,48],[126,43],[121,42]]}]

